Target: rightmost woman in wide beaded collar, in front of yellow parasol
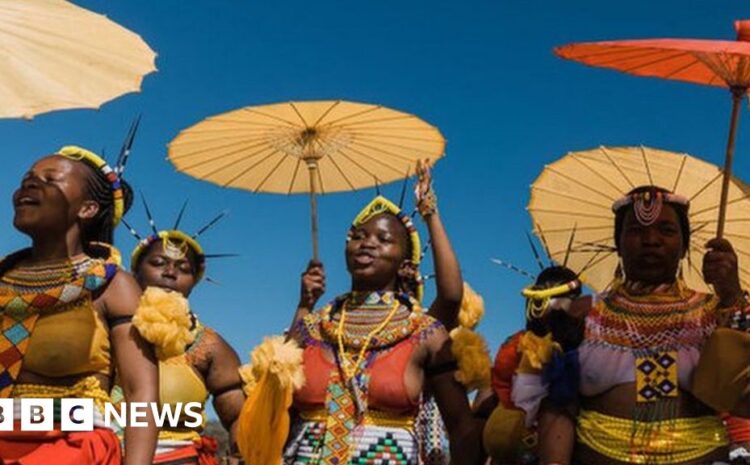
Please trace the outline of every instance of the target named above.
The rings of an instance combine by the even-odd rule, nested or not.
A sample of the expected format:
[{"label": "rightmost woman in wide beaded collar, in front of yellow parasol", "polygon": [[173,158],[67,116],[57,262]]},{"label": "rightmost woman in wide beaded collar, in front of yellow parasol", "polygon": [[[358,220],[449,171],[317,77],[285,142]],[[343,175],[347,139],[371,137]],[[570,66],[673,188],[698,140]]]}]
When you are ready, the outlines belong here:
[{"label": "rightmost woman in wide beaded collar, in front of yellow parasol", "polygon": [[[689,202],[656,187],[615,202],[621,259],[610,290],[574,303],[585,316],[577,405],[548,403],[539,420],[541,463],[708,464],[727,461],[724,425],[693,392],[709,336],[725,315],[747,318],[737,257],[706,244],[703,275],[716,295],[686,288]],[[741,317],[740,317],[741,316]]]}]

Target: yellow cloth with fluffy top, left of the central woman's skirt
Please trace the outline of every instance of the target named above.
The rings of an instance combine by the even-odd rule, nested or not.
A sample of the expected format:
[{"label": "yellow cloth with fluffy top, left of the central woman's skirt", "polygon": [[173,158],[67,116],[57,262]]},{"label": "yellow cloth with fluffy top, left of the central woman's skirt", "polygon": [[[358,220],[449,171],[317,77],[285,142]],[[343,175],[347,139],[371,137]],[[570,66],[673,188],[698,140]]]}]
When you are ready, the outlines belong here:
[{"label": "yellow cloth with fluffy top, left of the central woman's skirt", "polygon": [[257,385],[240,412],[237,447],[247,465],[279,464],[289,434],[292,395],[305,382],[302,349],[275,336],[266,338],[250,358]]}]

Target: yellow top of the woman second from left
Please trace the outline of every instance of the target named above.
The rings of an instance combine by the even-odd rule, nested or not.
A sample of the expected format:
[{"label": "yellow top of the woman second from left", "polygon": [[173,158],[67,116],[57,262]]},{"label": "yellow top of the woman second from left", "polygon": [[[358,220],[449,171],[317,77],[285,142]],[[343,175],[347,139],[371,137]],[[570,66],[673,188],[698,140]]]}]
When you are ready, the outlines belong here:
[{"label": "yellow top of the woman second from left", "polygon": [[[208,399],[208,388],[203,378],[190,365],[185,354],[159,361],[159,403],[176,407],[182,403],[183,408],[188,402],[199,402],[205,406]],[[184,410],[183,410],[184,412]],[[201,412],[204,417],[205,412]],[[189,419],[183,414],[181,420]],[[165,426],[159,432],[159,439],[194,439],[200,437],[202,427],[184,431],[171,430]]]}]

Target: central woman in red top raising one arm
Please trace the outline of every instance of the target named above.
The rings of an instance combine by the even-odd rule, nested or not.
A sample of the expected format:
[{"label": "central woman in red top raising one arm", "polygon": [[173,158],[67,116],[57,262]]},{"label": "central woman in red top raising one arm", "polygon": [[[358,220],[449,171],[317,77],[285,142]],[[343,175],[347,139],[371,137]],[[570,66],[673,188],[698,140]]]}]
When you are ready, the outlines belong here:
[{"label": "central woman in red top raising one arm", "polygon": [[[431,233],[438,287],[431,312],[453,315],[455,321],[461,273],[437,214],[429,170],[420,165],[418,171],[417,204]],[[256,376],[261,382],[243,408],[239,445],[246,462],[277,460],[275,450],[267,453],[265,444],[251,442],[253,437],[244,444],[244,431],[267,437],[257,421],[244,417],[260,417],[254,415],[263,408],[259,399],[273,398],[267,388],[279,384],[278,378],[268,381],[269,373],[288,371],[293,363],[283,367],[281,359],[297,357],[304,376],[290,380],[296,389],[288,398],[294,418],[284,447],[285,464],[430,463],[429,441],[415,425],[427,389],[445,420],[452,463],[481,463],[480,429],[471,417],[466,391],[454,378],[448,333],[418,300],[421,250],[410,218],[388,200],[376,198],[354,220],[345,255],[352,291],[308,313],[293,328],[290,336],[304,352],[295,355],[277,348],[273,364],[264,362],[271,351],[253,353],[254,369],[263,363],[270,370]],[[323,290],[322,266],[311,264],[303,274],[298,312],[309,312]],[[272,428],[289,429],[286,418],[273,418],[273,412],[269,416]],[[284,439],[268,444],[281,446]]]}]

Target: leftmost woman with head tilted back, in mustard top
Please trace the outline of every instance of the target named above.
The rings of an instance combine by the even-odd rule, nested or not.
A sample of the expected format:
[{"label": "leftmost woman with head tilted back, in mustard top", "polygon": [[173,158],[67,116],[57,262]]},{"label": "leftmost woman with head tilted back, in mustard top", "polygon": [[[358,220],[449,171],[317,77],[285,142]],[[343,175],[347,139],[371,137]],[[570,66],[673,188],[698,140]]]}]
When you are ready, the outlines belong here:
[{"label": "leftmost woman with head tilted back, in mustard top", "polygon": [[[140,288],[119,269],[112,234],[130,191],[99,156],[64,147],[38,160],[13,195],[13,224],[28,249],[0,264],[0,396],[93,398],[93,432],[0,432],[5,464],[119,464],[115,434],[103,426],[117,369],[130,402],[156,401],[152,349],[131,327]],[[13,320],[23,325],[23,330]],[[9,328],[10,326],[10,328]],[[146,465],[156,427],[125,429],[124,463]],[[55,419],[56,425],[59,418]]]}]

